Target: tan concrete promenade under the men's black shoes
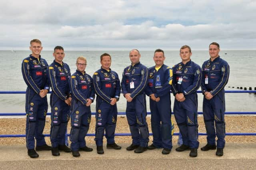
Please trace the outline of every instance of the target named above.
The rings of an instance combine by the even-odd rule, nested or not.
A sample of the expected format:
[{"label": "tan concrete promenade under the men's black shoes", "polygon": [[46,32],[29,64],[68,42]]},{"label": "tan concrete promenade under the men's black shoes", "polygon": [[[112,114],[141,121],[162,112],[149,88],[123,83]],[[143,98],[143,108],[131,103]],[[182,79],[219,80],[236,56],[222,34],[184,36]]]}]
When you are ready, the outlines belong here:
[{"label": "tan concrete promenade under the men's black shoes", "polygon": [[[150,143],[151,144],[151,143]],[[215,155],[216,150],[201,151],[191,158],[190,151],[176,152],[174,145],[168,155],[163,155],[162,149],[147,150],[136,154],[127,151],[130,144],[120,144],[121,150],[106,149],[104,154],[96,153],[96,146],[89,144],[92,152],[80,152],[75,158],[71,153],[60,152],[60,156],[52,156],[51,151],[38,152],[39,158],[32,159],[27,154],[25,145],[0,146],[0,169],[3,170],[41,170],[41,169],[102,169],[102,170],[250,170],[256,169],[256,143],[226,143],[224,156]],[[205,143],[200,144],[200,147]]]}]

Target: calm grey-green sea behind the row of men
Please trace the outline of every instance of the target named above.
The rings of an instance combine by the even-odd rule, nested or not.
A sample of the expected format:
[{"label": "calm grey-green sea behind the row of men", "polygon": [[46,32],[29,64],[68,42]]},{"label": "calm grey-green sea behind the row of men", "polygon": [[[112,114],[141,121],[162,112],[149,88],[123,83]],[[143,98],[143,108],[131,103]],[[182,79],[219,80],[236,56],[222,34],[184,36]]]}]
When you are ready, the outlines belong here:
[{"label": "calm grey-green sea behind the row of men", "polygon": [[[112,70],[119,74],[122,79],[123,69],[130,64],[129,51],[65,51],[64,62],[68,63],[71,72],[76,70],[76,58],[80,55],[86,57],[86,72],[92,76],[94,71],[100,68],[100,55],[109,53],[112,56]],[[21,62],[28,57],[30,51],[0,51],[0,91],[25,91],[26,84],[22,78]],[[141,63],[150,67],[154,65],[152,59],[154,51],[141,51]],[[226,54],[225,54],[226,53]],[[52,51],[42,51],[42,58],[48,64],[54,60]],[[173,66],[181,61],[179,51],[165,51],[165,64]],[[220,56],[230,65],[230,78],[225,90],[236,90],[236,87],[256,87],[256,51],[221,51]],[[209,59],[208,51],[192,51],[192,61],[200,66]],[[230,88],[228,87],[230,86]],[[232,88],[234,86],[235,88]],[[50,97],[48,97],[49,100]],[[198,94],[198,111],[202,111],[202,94]],[[172,108],[174,98],[172,96]],[[256,111],[255,94],[226,94],[226,111]],[[0,108],[2,113],[24,113],[25,94],[0,94]],[[149,102],[147,103],[148,111]],[[118,102],[118,111],[125,111],[126,101],[121,96]],[[95,103],[92,104],[95,111]],[[48,112],[50,111],[50,106]]]}]

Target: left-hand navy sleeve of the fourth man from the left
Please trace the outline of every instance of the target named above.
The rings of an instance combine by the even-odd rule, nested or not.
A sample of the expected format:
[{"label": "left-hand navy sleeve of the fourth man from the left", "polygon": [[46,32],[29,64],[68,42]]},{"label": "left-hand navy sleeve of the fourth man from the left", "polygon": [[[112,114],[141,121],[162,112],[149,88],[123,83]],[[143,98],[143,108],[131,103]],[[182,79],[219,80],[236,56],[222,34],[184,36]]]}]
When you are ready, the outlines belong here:
[{"label": "left-hand navy sleeve of the fourth man from the left", "polygon": [[[102,98],[106,102],[110,103],[111,102],[110,96],[106,95],[101,90],[101,81],[100,81],[100,76],[98,75],[98,72],[95,72],[93,74],[92,79],[93,79],[94,90],[95,90],[95,93],[97,94],[97,96],[99,96],[100,98]],[[98,79],[98,81],[97,81],[97,79]]]}]

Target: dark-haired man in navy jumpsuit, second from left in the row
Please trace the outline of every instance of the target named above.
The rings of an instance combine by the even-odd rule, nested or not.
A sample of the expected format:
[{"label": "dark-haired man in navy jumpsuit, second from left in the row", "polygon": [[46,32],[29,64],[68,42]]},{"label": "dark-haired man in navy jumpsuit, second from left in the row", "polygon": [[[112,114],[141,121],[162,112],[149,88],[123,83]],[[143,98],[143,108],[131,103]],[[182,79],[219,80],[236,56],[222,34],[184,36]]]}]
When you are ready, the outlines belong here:
[{"label": "dark-haired man in navy jumpsuit, second from left in the row", "polygon": [[65,57],[63,47],[56,46],[53,56],[54,61],[47,69],[48,80],[52,87],[50,96],[52,110],[50,140],[52,143],[52,155],[59,156],[59,150],[71,152],[65,145],[65,133],[70,116],[71,95],[68,80],[71,74],[68,64],[62,62]]}]

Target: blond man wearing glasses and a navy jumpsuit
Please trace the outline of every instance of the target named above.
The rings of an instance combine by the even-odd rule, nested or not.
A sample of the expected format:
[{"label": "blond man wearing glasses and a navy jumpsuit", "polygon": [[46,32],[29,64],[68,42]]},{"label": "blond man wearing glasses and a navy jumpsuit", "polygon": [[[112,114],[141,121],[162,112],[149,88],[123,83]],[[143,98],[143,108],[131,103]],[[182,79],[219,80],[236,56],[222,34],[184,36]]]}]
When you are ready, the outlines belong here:
[{"label": "blond man wearing glasses and a navy jumpsuit", "polygon": [[94,100],[92,77],[84,71],[86,58],[76,59],[77,70],[70,79],[71,100],[71,130],[70,141],[73,156],[80,156],[78,150],[90,152],[92,148],[86,146],[85,136],[91,121],[91,107]]}]

